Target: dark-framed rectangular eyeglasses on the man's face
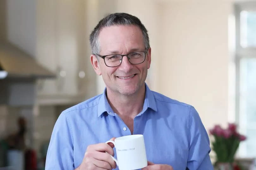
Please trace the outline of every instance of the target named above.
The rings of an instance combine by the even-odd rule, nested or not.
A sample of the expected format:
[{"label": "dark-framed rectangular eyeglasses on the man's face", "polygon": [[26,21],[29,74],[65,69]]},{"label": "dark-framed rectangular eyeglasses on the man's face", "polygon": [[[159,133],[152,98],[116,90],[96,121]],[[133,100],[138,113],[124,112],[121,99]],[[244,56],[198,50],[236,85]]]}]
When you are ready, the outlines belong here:
[{"label": "dark-framed rectangular eyeglasses on the man's face", "polygon": [[117,66],[121,65],[124,56],[127,56],[128,61],[131,64],[140,64],[145,61],[146,54],[147,54],[147,51],[137,51],[137,52],[132,52],[129,54],[124,54],[124,55],[112,54],[112,55],[107,55],[107,56],[101,56],[101,55],[97,54],[97,56],[104,59],[104,62],[107,67],[117,67]]}]

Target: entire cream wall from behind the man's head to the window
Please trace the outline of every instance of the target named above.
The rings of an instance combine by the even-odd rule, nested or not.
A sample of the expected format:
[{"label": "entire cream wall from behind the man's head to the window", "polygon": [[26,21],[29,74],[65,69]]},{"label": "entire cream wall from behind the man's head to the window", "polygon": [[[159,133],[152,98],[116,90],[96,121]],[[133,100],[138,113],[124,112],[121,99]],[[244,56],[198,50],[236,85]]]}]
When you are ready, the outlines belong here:
[{"label": "entire cream wall from behind the man's head to the window", "polygon": [[[107,13],[137,16],[149,31],[152,64],[147,83],[154,91],[193,105],[207,130],[229,118],[228,18],[233,2],[99,0]],[[134,5],[136,4],[136,5]],[[105,87],[98,77],[98,93]]]}]

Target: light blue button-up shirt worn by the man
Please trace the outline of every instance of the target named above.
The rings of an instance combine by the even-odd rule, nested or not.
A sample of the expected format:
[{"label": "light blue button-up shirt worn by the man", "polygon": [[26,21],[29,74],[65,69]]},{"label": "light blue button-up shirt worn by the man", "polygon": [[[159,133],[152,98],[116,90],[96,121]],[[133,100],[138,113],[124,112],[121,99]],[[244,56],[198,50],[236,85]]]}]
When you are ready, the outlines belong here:
[{"label": "light blue button-up shirt worn by the man", "polygon": [[[195,108],[145,86],[143,110],[134,118],[133,134],[143,134],[148,161],[168,164],[175,170],[212,170],[209,138]],[[53,128],[46,170],[75,169],[88,145],[131,135],[113,112],[105,92],[60,114]]]}]

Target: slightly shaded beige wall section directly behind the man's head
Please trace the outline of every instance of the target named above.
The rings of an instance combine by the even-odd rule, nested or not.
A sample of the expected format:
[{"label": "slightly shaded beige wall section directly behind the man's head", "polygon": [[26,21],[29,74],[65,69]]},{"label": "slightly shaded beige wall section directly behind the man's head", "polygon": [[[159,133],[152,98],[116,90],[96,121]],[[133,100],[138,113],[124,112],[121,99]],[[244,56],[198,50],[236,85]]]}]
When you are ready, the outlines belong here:
[{"label": "slightly shaded beige wall section directly behind the man's head", "polygon": [[[89,0],[88,2],[90,2]],[[162,24],[162,15],[161,15],[161,7],[160,2],[154,0],[94,0],[94,3],[91,3],[91,6],[98,9],[98,13],[91,12],[90,16],[98,16],[98,21],[102,19],[104,16],[110,13],[115,12],[125,12],[131,15],[137,16],[145,27],[148,30],[149,38],[150,38],[150,46],[152,48],[152,63],[151,68],[148,72],[148,78],[146,80],[147,84],[150,88],[155,89],[156,81],[155,77],[158,75],[158,60],[156,57],[159,54],[160,43],[161,39],[159,37],[159,28]],[[91,8],[92,9],[92,8]],[[94,22],[94,26],[98,23],[91,21],[90,23]],[[93,29],[91,27],[91,30]],[[97,76],[97,93],[102,93],[103,89],[105,88],[105,84],[101,78],[101,76]]]}]

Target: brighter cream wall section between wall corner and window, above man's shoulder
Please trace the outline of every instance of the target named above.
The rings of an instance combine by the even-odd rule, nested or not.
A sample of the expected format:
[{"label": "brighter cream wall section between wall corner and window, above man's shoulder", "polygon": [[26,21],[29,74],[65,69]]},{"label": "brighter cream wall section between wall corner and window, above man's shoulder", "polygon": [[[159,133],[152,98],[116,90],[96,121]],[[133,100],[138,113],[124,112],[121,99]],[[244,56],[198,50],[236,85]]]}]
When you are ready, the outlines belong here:
[{"label": "brighter cream wall section between wall corner and window, above man's shoulder", "polygon": [[162,61],[156,90],[193,105],[207,130],[228,121],[229,1],[162,6]]}]

